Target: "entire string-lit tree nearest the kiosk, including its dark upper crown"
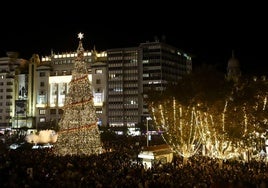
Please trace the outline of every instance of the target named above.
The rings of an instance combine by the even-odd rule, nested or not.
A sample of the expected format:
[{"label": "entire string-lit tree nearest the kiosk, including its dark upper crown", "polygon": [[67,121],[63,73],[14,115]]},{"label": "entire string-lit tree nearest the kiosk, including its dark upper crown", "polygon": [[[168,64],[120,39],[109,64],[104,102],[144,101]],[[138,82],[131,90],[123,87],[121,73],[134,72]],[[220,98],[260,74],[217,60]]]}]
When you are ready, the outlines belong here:
[{"label": "entire string-lit tree nearest the kiosk, including its dark upper crown", "polygon": [[[184,76],[177,85],[168,86],[162,93],[149,93],[155,125],[163,131],[162,136],[173,151],[183,157],[184,163],[216,135],[210,109],[216,103],[220,109],[224,106],[222,99],[229,93],[229,87],[223,74],[213,67],[204,67]],[[213,112],[221,113],[220,109]]]}]

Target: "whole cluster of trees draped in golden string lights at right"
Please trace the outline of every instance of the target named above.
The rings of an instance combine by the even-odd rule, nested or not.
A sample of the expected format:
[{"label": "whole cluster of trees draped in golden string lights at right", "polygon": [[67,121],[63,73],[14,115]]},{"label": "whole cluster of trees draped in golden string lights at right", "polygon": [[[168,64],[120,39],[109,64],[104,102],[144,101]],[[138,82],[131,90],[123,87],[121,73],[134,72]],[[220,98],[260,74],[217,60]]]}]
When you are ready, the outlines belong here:
[{"label": "whole cluster of trees draped in golden string lights at right", "polygon": [[265,76],[233,83],[206,68],[149,95],[150,110],[165,141],[185,159],[202,149],[220,162],[250,160],[268,143],[267,83]]}]

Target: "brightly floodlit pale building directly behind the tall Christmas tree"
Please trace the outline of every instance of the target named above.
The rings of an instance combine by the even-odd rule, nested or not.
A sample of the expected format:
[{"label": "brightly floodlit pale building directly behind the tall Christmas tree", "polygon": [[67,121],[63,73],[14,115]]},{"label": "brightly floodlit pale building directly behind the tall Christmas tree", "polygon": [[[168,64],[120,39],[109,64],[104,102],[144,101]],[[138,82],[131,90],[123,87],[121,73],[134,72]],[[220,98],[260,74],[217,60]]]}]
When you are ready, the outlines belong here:
[{"label": "brightly floodlit pale building directly behind the tall Christmas tree", "polygon": [[[65,95],[68,83],[71,81],[76,52],[55,54],[42,57],[40,66],[37,67],[37,103],[36,120],[37,128],[56,128],[63,114]],[[106,53],[94,51],[84,52],[85,62],[92,82],[94,105],[97,109],[99,124],[106,124],[105,116],[105,88],[106,88]],[[92,68],[93,67],[93,68]],[[93,72],[92,72],[93,70]],[[94,75],[94,78],[92,78]]]}]

